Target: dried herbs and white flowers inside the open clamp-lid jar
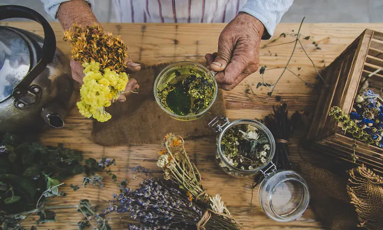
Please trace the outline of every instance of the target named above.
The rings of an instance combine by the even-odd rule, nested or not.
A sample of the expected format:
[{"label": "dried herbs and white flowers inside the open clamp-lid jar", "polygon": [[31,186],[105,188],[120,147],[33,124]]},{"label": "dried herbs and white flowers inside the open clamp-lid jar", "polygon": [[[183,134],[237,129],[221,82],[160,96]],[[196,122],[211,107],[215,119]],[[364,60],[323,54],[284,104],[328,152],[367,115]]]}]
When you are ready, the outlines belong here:
[{"label": "dried herbs and white flowers inside the open clamp-lid jar", "polygon": [[[267,137],[252,125],[235,125],[225,132],[222,153],[233,167],[253,170],[266,163],[270,154]],[[221,162],[221,167],[226,167]]]}]

